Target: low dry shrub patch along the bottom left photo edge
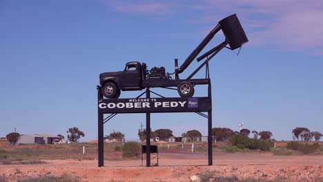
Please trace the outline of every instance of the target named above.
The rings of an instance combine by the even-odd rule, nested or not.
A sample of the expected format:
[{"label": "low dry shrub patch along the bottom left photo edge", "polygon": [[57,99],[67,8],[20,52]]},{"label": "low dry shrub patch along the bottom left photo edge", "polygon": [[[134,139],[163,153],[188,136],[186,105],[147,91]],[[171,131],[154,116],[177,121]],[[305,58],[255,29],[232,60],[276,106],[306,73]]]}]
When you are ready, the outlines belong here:
[{"label": "low dry shrub patch along the bottom left photo edge", "polygon": [[43,175],[26,179],[19,179],[17,182],[79,182],[79,178],[64,173],[61,176]]}]

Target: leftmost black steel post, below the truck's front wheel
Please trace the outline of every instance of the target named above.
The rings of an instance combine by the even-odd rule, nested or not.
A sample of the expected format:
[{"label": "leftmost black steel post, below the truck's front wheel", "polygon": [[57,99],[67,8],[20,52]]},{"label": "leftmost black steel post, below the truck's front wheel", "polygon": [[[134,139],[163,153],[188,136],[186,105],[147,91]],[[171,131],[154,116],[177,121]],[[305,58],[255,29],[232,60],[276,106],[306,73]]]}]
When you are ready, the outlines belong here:
[{"label": "leftmost black steel post, below the truck's front wheel", "polygon": [[[101,88],[97,89],[97,101],[103,99],[103,94],[101,93]],[[98,162],[99,167],[104,166],[104,114],[97,112],[97,143],[98,143]]]}]

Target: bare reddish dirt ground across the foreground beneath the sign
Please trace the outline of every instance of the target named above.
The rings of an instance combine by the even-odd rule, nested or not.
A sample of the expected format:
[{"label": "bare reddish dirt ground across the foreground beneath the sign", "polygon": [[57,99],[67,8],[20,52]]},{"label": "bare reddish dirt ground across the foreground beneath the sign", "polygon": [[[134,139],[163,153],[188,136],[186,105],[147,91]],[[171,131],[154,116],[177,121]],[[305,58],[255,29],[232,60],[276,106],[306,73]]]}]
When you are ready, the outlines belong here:
[{"label": "bare reddish dirt ground across the foreground beneath the sign", "polygon": [[[159,155],[159,166],[142,167],[141,160],[97,161],[53,160],[40,165],[0,165],[0,175],[10,181],[41,174],[64,172],[79,176],[82,181],[189,181],[188,177],[206,170],[218,176],[235,175],[239,179],[275,179],[286,176],[290,181],[323,181],[323,156],[275,156],[273,154],[215,154],[213,166],[207,166],[207,154]],[[152,165],[156,163],[152,159]],[[144,161],[144,165],[146,161]]]}]

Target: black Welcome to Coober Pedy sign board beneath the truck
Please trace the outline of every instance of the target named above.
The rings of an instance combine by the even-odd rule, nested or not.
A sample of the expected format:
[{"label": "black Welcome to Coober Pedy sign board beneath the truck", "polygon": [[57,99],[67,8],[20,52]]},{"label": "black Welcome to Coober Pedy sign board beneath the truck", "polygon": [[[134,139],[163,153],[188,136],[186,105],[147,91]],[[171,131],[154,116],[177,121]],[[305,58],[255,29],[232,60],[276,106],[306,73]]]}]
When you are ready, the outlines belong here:
[{"label": "black Welcome to Coober Pedy sign board beneath the truck", "polygon": [[212,109],[209,97],[99,99],[100,113],[207,112]]}]

